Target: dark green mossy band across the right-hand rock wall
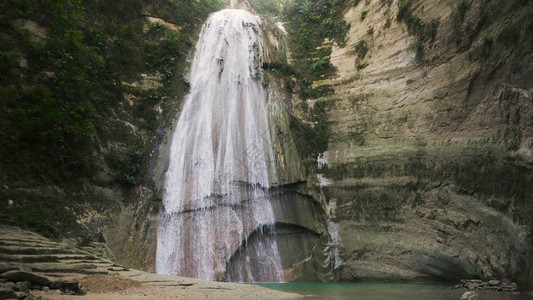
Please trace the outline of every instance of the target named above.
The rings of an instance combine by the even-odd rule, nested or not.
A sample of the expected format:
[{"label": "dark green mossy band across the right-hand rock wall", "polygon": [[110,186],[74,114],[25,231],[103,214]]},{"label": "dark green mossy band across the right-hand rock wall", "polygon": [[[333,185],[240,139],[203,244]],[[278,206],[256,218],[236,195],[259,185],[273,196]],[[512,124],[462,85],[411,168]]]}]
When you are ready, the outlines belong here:
[{"label": "dark green mossy band across the right-hand rock wall", "polygon": [[[533,206],[533,173],[530,167],[525,167],[525,161],[521,157],[510,156],[508,153],[505,147],[488,142],[435,146],[419,141],[401,153],[363,156],[352,163],[330,165],[323,172],[327,178],[333,180],[413,178],[407,184],[360,184],[355,189],[349,187],[346,202],[351,201],[349,199],[388,202],[391,195],[395,195],[395,201],[411,201],[411,205],[416,206],[423,201],[420,193],[446,180],[453,183],[452,186],[458,193],[474,195],[485,201],[487,206],[510,212],[518,222],[533,226],[530,219],[530,208]],[[377,216],[382,214],[383,212],[376,211]]]}]

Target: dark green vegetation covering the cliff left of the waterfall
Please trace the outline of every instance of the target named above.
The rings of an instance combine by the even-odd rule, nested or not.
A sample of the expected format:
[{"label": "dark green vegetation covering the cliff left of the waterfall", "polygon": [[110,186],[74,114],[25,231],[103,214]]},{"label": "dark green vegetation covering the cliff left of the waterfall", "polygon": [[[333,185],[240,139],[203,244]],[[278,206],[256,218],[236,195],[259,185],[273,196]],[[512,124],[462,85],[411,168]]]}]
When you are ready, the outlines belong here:
[{"label": "dark green vegetation covering the cliff left of the waterfall", "polygon": [[[71,219],[71,200],[13,194],[14,186],[90,182],[103,168],[111,174],[104,184],[136,184],[162,118],[154,106],[186,93],[186,57],[199,26],[221,7],[219,0],[3,1],[0,192],[15,201],[1,219],[54,235],[57,216]],[[132,84],[142,74],[159,83]]]}]

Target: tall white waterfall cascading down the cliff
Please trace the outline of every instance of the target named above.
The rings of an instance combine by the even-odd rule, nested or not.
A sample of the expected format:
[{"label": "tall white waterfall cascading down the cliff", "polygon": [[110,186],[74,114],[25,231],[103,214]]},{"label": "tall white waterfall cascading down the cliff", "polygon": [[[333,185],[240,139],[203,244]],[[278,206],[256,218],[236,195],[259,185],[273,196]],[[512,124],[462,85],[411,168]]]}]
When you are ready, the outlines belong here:
[{"label": "tall white waterfall cascading down the cliff", "polygon": [[257,17],[247,11],[219,11],[202,29],[171,142],[158,273],[283,281],[271,233],[269,187],[277,182],[262,53]]}]

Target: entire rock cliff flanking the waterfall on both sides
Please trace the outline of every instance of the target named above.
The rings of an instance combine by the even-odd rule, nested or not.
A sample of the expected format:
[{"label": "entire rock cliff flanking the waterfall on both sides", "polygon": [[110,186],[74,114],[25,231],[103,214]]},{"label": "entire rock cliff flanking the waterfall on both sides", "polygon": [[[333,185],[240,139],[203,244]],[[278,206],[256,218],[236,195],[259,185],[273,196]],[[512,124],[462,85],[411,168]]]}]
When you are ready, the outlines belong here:
[{"label": "entire rock cliff flanking the waterfall on both sides", "polygon": [[[114,24],[95,21],[107,35],[85,31],[91,16],[76,22],[83,34],[98,39],[69,35],[78,43],[76,51],[100,51],[93,62],[101,58],[107,67],[121,70],[111,76],[118,80],[113,91],[119,99],[97,107],[89,121],[93,127],[88,127],[87,149],[94,166],[89,173],[73,169],[69,178],[50,180],[33,160],[23,164],[28,157],[40,162],[50,155],[43,152],[35,158],[28,154],[33,149],[28,144],[30,150],[24,148],[18,159],[2,161],[0,195],[5,201],[0,215],[2,222],[67,238],[76,246],[106,242],[120,263],[153,271],[161,184],[168,165],[165,142],[187,92],[187,53],[218,1],[189,16],[190,26],[184,12],[193,8],[182,9],[181,2],[166,7],[153,0],[144,8],[139,1],[131,2],[134,14],[128,7],[100,2],[92,8],[95,15],[123,12]],[[13,3],[2,5],[10,8]],[[20,3],[24,9],[31,7]],[[254,10],[257,1],[230,3]],[[262,24],[268,49],[263,84],[269,90],[270,121],[276,124],[270,130],[283,177],[283,184],[272,190],[280,195],[272,204],[286,278],[507,278],[531,286],[533,3],[328,3],[342,8],[340,17],[350,25],[345,41],[324,40],[309,57],[302,58],[294,45],[288,48],[287,40],[295,39],[291,30],[287,34],[276,22]],[[272,7],[269,13],[280,11]],[[0,77],[1,91],[2,101],[12,101],[1,111],[9,122],[0,125],[2,138],[9,141],[4,144],[10,145],[3,150],[15,153],[13,149],[20,150],[29,138],[6,131],[6,126],[26,108],[14,109],[24,97],[7,92],[41,81],[54,86],[69,56],[41,67],[39,56],[50,51],[40,47],[53,45],[56,38],[50,28],[64,24],[50,24],[39,11],[22,17],[19,10],[3,11],[13,13],[1,19],[9,30],[0,38],[12,48],[1,49],[7,74]],[[180,18],[169,11],[180,12]],[[79,13],[67,12],[69,18]],[[128,27],[128,22],[133,25]],[[318,22],[331,24],[332,19]],[[17,39],[22,42],[13,42]],[[80,41],[100,41],[109,52],[125,51],[128,57],[139,55],[137,42],[146,49],[141,58],[126,61],[106,56],[108,48],[84,47]],[[179,53],[170,53],[173,43],[182,46]],[[33,50],[24,48],[27,45]],[[327,72],[304,74],[316,77],[311,85],[290,71],[302,59],[309,61],[309,73]],[[23,96],[38,92],[29,89]],[[29,135],[45,143],[43,136]],[[14,178],[15,173],[20,176]],[[37,176],[25,177],[33,173]],[[303,251],[295,252],[299,245]]]}]

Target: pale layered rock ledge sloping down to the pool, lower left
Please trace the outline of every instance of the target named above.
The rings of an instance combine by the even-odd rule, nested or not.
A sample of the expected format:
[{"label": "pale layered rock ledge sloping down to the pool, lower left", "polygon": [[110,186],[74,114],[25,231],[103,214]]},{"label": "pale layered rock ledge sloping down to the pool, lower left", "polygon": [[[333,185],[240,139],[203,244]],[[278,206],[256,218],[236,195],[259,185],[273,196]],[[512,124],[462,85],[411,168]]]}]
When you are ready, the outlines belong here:
[{"label": "pale layered rock ledge sloping down to the pool, lower left", "polygon": [[0,299],[191,299],[300,296],[255,285],[128,269],[89,251],[0,225]]}]

